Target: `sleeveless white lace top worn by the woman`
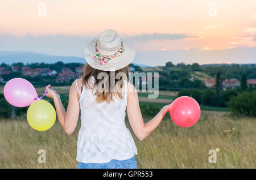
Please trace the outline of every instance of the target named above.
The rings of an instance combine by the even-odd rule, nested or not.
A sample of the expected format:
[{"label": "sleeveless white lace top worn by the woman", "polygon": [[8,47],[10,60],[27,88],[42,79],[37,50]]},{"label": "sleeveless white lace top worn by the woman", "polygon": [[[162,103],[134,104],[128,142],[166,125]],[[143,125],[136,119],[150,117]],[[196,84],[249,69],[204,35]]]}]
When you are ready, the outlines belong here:
[{"label": "sleeveless white lace top worn by the woman", "polygon": [[[91,77],[90,86],[94,84],[94,78]],[[80,94],[77,81],[76,87]],[[127,160],[137,155],[134,140],[125,125],[127,89],[128,83],[124,81],[122,99],[113,96],[114,101],[98,104],[94,91],[85,86],[82,88],[79,100],[81,128],[77,140],[77,161],[106,163],[111,160]]]}]

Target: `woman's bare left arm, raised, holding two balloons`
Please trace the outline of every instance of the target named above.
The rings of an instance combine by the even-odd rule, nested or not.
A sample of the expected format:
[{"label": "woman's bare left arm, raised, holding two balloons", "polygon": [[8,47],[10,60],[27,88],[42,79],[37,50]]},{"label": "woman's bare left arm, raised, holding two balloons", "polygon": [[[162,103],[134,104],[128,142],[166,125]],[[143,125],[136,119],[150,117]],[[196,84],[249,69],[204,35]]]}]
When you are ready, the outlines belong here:
[{"label": "woman's bare left arm, raised, holding two balloons", "polygon": [[63,127],[64,131],[68,135],[71,135],[76,128],[77,121],[79,118],[79,111],[80,111],[80,104],[79,104],[79,97],[78,97],[79,95],[77,93],[76,83],[73,82],[69,90],[67,113],[63,108],[63,104],[60,100],[60,96],[57,95],[49,87],[50,85],[46,87],[46,92],[47,92],[46,96],[53,98],[60,125]]}]

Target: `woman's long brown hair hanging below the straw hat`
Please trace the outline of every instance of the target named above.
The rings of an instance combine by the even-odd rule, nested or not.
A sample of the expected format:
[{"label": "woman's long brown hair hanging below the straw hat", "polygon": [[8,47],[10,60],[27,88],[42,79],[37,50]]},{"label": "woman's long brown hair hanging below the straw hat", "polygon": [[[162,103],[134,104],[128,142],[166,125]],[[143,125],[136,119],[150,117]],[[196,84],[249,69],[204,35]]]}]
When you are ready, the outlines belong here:
[{"label": "woman's long brown hair hanging below the straw hat", "polygon": [[[96,89],[96,91],[94,92],[94,95],[97,96],[96,101],[98,103],[103,101],[107,101],[109,103],[110,101],[113,101],[113,96],[121,99],[123,98],[122,96],[123,81],[127,80],[127,76],[126,76],[127,71],[129,72],[129,66],[123,67],[117,71],[110,72],[110,71],[97,70],[96,68],[93,68],[87,63],[83,67],[83,70],[82,70],[83,74],[82,76],[80,76],[80,78],[82,78],[82,83],[85,85],[85,88],[92,89],[92,91],[94,90],[94,88]],[[101,72],[105,72],[108,75],[107,77],[102,77],[102,79],[104,78],[105,80],[104,83],[102,84],[102,89],[104,89],[104,91],[102,92],[98,91],[98,88],[97,88],[98,84],[100,84],[100,82],[102,81],[102,79],[98,79]],[[124,77],[125,79],[123,79],[123,76],[120,79],[115,78],[115,75],[117,75],[119,72],[123,72],[125,74],[125,77]],[[93,87],[89,85],[90,84],[89,80],[91,76],[94,77]],[[110,82],[112,79],[114,79],[114,86]]]}]

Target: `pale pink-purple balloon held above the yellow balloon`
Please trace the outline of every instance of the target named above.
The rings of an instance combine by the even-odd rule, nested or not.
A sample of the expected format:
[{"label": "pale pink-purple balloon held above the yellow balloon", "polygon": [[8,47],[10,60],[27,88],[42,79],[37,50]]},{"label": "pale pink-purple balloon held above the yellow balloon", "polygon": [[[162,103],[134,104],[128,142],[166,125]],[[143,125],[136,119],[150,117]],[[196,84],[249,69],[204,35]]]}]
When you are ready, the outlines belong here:
[{"label": "pale pink-purple balloon held above the yellow balloon", "polygon": [[3,95],[6,101],[16,107],[26,107],[31,105],[38,97],[34,86],[26,79],[14,78],[9,80],[3,88]]}]

